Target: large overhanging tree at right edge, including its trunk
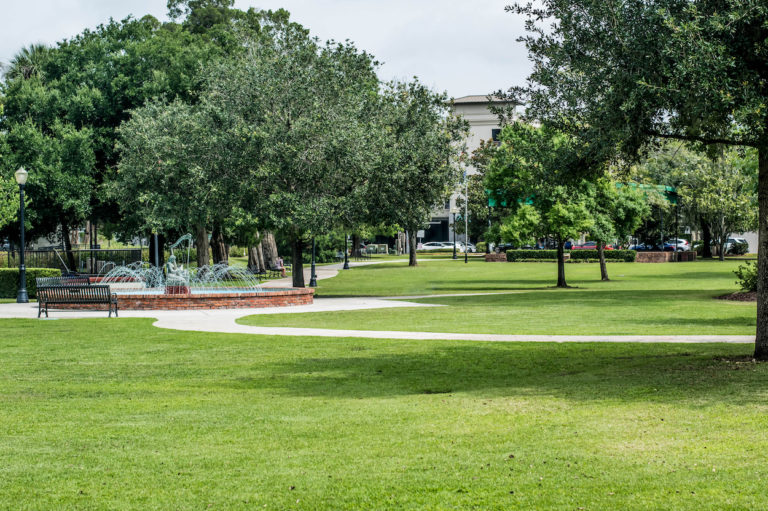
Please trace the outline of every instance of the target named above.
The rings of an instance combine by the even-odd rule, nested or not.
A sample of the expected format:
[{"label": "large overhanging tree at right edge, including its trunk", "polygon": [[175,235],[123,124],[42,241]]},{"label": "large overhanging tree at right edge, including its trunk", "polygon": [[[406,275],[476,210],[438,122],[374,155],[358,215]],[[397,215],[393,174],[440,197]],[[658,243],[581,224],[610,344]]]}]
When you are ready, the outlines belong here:
[{"label": "large overhanging tree at right edge, including its trunk", "polygon": [[630,156],[659,139],[757,149],[755,357],[768,359],[768,4],[543,0],[508,9],[528,17],[534,64],[529,87],[512,93],[542,122]]}]

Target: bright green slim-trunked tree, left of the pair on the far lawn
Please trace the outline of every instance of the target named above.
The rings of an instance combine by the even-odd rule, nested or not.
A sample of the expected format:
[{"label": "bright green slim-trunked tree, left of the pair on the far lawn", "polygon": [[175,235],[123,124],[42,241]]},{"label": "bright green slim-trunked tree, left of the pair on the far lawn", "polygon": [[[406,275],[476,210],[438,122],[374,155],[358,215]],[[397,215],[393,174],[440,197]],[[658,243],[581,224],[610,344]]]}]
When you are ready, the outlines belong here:
[{"label": "bright green slim-trunked tree, left of the pair on the far lawn", "polygon": [[[538,219],[538,232],[553,235],[557,242],[557,287],[568,287],[565,242],[593,226],[585,182],[577,177],[586,165],[579,157],[580,148],[572,137],[522,122],[505,126],[500,140],[486,186],[497,202],[507,204],[512,211],[501,229],[502,236],[506,234],[509,239],[514,229],[530,228]],[[517,236],[530,239],[534,234],[521,230]]]}]

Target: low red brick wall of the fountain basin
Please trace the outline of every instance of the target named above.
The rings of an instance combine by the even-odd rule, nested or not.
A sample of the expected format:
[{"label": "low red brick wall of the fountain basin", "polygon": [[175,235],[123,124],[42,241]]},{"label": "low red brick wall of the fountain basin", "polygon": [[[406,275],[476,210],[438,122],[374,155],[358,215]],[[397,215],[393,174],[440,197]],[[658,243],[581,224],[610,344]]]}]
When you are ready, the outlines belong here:
[{"label": "low red brick wall of the fountain basin", "polygon": [[[285,289],[263,293],[194,295],[117,295],[120,310],[250,309],[309,305],[315,290]],[[106,305],[60,305],[57,309],[107,309]]]}]

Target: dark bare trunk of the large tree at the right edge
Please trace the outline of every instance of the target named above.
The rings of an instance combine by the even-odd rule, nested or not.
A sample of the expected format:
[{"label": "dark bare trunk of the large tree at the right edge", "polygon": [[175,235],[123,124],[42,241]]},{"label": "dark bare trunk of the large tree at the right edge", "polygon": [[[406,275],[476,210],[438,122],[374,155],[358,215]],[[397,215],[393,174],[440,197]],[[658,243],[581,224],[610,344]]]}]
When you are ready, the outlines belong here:
[{"label": "dark bare trunk of the large tree at the right edge", "polygon": [[768,360],[768,144],[758,149],[757,336],[755,358]]}]

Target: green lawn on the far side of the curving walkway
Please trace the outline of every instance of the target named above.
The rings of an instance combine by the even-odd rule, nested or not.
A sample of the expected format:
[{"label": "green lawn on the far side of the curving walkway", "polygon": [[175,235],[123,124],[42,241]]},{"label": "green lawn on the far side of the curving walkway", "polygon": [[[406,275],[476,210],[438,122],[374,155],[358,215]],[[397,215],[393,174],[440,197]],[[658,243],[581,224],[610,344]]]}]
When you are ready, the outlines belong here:
[{"label": "green lawn on the far side of the curving walkway", "polygon": [[255,315],[262,326],[492,334],[753,334],[755,304],[715,300],[738,290],[738,262],[569,264],[573,289],[555,289],[554,263],[429,261],[353,268],[319,281],[318,296],[405,296],[513,291],[417,299],[443,305]]}]

